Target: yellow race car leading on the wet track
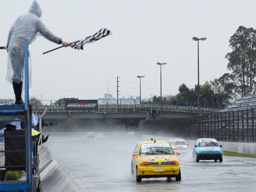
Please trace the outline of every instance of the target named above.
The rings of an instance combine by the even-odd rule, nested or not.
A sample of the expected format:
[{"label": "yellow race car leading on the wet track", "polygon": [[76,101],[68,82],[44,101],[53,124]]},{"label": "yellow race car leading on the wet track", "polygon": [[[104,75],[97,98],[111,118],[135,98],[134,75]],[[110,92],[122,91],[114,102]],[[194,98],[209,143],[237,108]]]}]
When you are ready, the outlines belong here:
[{"label": "yellow race car leading on the wet track", "polygon": [[141,141],[132,154],[131,172],[137,182],[150,177],[175,177],[180,181],[179,154],[168,141]]}]

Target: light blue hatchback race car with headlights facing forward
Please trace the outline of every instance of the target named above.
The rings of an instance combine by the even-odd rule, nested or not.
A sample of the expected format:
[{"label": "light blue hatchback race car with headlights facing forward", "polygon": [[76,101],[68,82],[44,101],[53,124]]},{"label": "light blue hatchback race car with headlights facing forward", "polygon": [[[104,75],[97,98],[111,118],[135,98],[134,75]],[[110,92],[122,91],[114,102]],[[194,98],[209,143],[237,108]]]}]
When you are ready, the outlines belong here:
[{"label": "light blue hatchback race car with headlights facing forward", "polygon": [[217,162],[223,161],[222,157],[222,145],[218,144],[218,141],[212,138],[200,138],[195,141],[195,147],[193,149],[193,157],[196,162],[200,160],[214,160]]}]

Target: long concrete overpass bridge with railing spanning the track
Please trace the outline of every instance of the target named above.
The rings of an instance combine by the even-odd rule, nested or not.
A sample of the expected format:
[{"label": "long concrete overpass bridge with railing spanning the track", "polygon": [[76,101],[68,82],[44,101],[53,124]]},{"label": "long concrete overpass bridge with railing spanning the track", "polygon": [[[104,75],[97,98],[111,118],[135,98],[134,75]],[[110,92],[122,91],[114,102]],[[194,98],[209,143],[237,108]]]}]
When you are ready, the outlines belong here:
[{"label": "long concrete overpass bridge with railing spanning the track", "polygon": [[[45,119],[61,118],[184,118],[197,115],[197,107],[164,105],[161,110],[159,104],[99,104],[95,110],[77,111],[67,110],[65,106],[56,104],[32,104],[32,111],[42,113],[45,109]],[[200,108],[201,113],[214,113],[218,109]]]}]

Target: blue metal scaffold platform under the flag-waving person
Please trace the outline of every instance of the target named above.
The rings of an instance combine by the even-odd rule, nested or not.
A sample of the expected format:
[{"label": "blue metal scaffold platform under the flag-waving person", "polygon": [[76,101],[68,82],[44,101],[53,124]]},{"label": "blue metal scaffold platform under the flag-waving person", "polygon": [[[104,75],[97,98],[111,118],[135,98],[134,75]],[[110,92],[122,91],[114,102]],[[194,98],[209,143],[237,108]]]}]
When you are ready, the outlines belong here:
[{"label": "blue metal scaffold platform under the flag-waving person", "polygon": [[[0,105],[0,123],[10,124],[19,122],[20,129],[8,128],[0,138],[4,138],[4,149],[0,150],[0,156],[4,163],[0,164],[0,191],[35,191],[33,180],[39,179],[36,168],[37,154],[33,152],[31,107],[29,106],[29,75],[28,75],[28,42],[25,42],[25,98],[22,105]],[[15,126],[14,126],[15,127]],[[2,128],[2,127],[1,127]],[[8,129],[7,129],[8,128]],[[21,171],[19,180],[4,180],[6,172]],[[37,180],[38,182],[38,180]],[[34,188],[34,190],[33,190]]]}]

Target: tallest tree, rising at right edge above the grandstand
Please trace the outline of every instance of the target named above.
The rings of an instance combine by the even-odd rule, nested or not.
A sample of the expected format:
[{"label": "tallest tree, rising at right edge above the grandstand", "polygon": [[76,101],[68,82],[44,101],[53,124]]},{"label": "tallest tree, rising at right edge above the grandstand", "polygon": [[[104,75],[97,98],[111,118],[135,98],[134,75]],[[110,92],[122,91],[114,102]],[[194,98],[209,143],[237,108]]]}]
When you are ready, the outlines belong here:
[{"label": "tallest tree, rising at right edge above the grandstand", "polygon": [[232,81],[236,85],[239,97],[252,92],[256,74],[256,30],[239,26],[229,40],[228,70],[231,70]]}]

